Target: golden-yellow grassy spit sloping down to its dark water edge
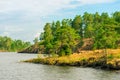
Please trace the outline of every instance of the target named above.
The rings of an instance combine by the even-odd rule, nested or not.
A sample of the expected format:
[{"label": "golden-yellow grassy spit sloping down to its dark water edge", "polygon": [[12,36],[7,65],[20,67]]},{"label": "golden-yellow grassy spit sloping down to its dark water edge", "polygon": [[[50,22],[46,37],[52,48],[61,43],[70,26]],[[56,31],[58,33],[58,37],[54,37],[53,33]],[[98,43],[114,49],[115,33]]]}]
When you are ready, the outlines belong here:
[{"label": "golden-yellow grassy spit sloping down to its dark water edge", "polygon": [[81,51],[69,56],[44,57],[26,60],[24,62],[41,63],[49,65],[90,66],[109,69],[120,69],[120,49]]}]

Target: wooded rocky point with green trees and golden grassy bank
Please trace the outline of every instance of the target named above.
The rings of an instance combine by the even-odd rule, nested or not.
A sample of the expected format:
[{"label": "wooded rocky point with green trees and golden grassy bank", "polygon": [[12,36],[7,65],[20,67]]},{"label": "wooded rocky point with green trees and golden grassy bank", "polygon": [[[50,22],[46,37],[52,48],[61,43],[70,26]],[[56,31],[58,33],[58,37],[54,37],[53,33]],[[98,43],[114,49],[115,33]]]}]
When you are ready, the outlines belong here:
[{"label": "wooded rocky point with green trees and golden grassy bank", "polygon": [[[37,52],[24,62],[120,69],[120,12],[85,12],[74,19],[46,23],[40,41],[21,52]],[[47,54],[43,56],[42,54]]]}]

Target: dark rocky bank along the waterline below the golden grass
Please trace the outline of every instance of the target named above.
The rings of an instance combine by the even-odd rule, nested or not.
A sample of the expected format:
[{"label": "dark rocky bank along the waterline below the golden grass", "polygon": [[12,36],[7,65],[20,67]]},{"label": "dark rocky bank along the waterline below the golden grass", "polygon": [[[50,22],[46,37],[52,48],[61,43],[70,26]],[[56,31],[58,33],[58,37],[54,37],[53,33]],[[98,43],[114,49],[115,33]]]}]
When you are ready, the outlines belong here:
[{"label": "dark rocky bank along the waterline below the golden grass", "polygon": [[31,59],[31,60],[26,60],[24,62],[30,62],[30,63],[36,63],[36,64],[45,64],[45,65],[56,65],[56,66],[76,66],[76,67],[93,67],[97,69],[105,69],[105,70],[120,70],[120,65],[113,65],[113,64],[105,64],[104,61],[96,61],[93,63],[89,63],[87,61],[77,61],[75,63],[58,63],[55,61],[54,64],[49,63],[48,60],[44,59]]}]

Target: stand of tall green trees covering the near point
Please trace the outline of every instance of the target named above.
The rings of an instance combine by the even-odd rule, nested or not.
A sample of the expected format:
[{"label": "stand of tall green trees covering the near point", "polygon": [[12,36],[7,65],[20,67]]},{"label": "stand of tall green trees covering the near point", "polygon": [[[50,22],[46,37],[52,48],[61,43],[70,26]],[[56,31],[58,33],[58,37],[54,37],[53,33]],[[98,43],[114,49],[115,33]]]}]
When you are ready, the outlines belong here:
[{"label": "stand of tall green trees covering the near point", "polygon": [[88,38],[93,42],[92,49],[118,48],[120,12],[111,15],[85,12],[83,16],[77,15],[74,19],[46,23],[39,45],[43,53],[69,55]]}]

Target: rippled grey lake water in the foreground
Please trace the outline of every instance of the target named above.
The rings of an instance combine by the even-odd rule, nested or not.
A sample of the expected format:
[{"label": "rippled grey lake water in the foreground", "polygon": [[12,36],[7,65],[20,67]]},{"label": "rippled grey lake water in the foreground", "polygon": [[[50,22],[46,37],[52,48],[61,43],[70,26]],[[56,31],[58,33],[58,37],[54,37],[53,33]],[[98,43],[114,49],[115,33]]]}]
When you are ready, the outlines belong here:
[{"label": "rippled grey lake water in the foreground", "polygon": [[0,53],[0,80],[120,80],[120,71],[20,62],[35,57],[37,54]]}]

